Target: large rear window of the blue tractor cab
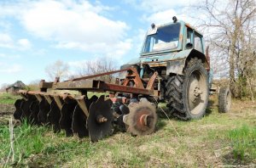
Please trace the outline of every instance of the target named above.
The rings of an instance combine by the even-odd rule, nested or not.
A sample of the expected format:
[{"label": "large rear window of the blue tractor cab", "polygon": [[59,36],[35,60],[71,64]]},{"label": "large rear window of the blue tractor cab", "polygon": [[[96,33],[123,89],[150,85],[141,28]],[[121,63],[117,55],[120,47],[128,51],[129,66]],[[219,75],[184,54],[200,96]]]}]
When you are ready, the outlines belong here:
[{"label": "large rear window of the blue tractor cab", "polygon": [[179,30],[179,23],[160,27],[155,34],[147,36],[143,53],[177,48]]}]

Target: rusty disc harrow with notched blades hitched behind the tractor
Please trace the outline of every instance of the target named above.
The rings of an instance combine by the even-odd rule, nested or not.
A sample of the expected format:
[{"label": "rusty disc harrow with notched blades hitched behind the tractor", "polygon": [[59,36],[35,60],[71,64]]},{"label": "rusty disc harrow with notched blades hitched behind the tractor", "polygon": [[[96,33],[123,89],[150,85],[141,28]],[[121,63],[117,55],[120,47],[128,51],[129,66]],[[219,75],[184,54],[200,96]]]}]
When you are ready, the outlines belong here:
[{"label": "rusty disc harrow with notched blades hitched behind the tractor", "polygon": [[[91,78],[126,71],[124,81],[116,84]],[[146,135],[154,132],[156,113],[148,102],[154,91],[157,72],[145,86],[133,68],[116,70],[95,76],[84,76],[70,81],[40,82],[40,91],[20,90],[22,99],[15,102],[15,119],[38,126],[52,126],[53,132],[66,132],[67,137],[90,137],[97,142],[113,132]],[[131,83],[133,85],[131,86]],[[47,89],[52,89],[47,92]],[[57,93],[57,90],[77,90],[80,94]],[[88,98],[87,91],[106,92],[108,97],[95,95]]]}]

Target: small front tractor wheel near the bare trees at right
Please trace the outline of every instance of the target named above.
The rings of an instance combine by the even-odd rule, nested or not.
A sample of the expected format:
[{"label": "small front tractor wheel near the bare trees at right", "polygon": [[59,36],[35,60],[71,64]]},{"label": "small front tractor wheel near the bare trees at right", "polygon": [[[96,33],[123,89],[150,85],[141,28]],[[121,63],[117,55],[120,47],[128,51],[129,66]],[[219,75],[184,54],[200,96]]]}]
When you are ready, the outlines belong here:
[{"label": "small front tractor wheel near the bare trees at right", "polygon": [[218,112],[227,113],[231,106],[230,87],[221,87],[218,92]]}]

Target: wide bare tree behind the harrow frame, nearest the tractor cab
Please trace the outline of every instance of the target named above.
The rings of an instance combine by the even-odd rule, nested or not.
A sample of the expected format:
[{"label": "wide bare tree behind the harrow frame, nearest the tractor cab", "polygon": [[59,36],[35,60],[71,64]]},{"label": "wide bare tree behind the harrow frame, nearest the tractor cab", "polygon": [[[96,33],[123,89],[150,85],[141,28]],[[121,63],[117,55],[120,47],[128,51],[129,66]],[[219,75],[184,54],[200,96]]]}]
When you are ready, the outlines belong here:
[{"label": "wide bare tree behind the harrow frame, nearest the tractor cab", "polygon": [[[79,76],[96,75],[113,70],[117,70],[116,64],[113,63],[113,59],[101,58],[92,61],[88,60],[84,62],[82,68],[79,69]],[[112,82],[113,78],[113,75],[98,77],[99,80],[106,82]]]}]

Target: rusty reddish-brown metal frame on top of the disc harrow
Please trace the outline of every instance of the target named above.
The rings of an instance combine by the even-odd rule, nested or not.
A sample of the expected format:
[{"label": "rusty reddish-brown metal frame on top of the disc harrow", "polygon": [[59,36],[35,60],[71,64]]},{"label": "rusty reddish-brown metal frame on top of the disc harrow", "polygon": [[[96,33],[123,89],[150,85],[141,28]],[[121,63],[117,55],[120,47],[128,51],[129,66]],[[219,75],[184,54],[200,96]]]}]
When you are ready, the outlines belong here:
[{"label": "rusty reddish-brown metal frame on top of the disc harrow", "polygon": [[[97,76],[104,76],[104,75],[110,75],[118,72],[123,72],[127,71],[127,76],[125,77],[125,81],[123,81],[122,85],[119,84],[110,84],[106,83],[104,81],[99,81],[99,80],[92,80],[90,78],[94,78]],[[137,69],[130,67],[127,69],[123,70],[114,70],[111,72],[106,72],[102,74],[98,74],[95,76],[83,76],[80,78],[75,78],[70,81],[62,81],[62,82],[45,82],[42,80],[40,82],[40,87],[41,90],[47,90],[47,88],[52,88],[52,89],[68,89],[68,90],[78,90],[78,91],[91,91],[91,92],[125,92],[125,93],[134,93],[134,94],[144,94],[144,95],[154,95],[154,81],[157,77],[157,74],[152,76],[152,79],[149,80],[148,87],[144,88],[143,86],[143,81],[140,78],[139,74],[137,73]],[[131,85],[131,82],[134,83],[134,85]],[[47,100],[49,98],[47,97],[52,97],[54,98],[55,96],[60,96],[61,98],[64,97],[72,97],[71,95],[67,94],[57,94],[53,95],[53,93],[47,93],[47,92],[32,92],[32,91],[20,91],[20,94],[23,95],[26,98],[26,94],[32,94],[32,95],[42,95],[44,96]],[[59,103],[59,101],[56,101]],[[49,102],[50,104],[50,102]],[[61,104],[58,104],[58,106],[61,108]]]}]

